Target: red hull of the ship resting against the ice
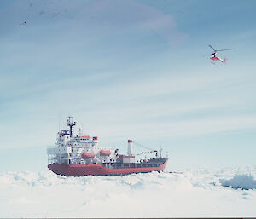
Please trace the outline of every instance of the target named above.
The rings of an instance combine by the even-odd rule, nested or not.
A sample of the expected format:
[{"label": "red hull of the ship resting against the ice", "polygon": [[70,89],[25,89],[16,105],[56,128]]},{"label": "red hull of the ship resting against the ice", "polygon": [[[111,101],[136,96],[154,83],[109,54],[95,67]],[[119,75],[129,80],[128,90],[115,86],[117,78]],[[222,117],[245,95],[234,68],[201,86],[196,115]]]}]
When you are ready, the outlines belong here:
[{"label": "red hull of the ship resting against the ice", "polygon": [[152,171],[165,170],[168,159],[164,164],[158,167],[141,167],[141,168],[123,168],[123,169],[109,169],[103,167],[101,164],[49,164],[49,170],[55,174],[64,176],[106,176],[106,175],[124,175],[130,173],[147,173]]}]

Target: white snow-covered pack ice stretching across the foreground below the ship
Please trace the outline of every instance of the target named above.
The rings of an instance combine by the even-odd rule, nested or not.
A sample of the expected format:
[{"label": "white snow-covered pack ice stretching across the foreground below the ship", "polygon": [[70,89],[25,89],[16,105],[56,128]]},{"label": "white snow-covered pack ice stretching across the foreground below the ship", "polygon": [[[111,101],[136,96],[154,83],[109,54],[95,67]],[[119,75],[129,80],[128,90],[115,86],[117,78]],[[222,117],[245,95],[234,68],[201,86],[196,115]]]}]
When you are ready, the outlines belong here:
[{"label": "white snow-covered pack ice stretching across the foreground below the ship", "polygon": [[255,178],[256,167],[81,177],[3,172],[0,217],[253,217]]}]

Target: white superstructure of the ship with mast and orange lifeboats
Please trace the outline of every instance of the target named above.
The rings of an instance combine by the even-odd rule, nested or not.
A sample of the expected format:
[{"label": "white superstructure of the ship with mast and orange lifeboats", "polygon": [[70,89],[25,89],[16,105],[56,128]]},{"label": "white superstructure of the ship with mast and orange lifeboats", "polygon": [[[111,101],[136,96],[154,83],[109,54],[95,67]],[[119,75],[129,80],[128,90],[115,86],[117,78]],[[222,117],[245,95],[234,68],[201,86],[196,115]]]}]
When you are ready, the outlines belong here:
[{"label": "white superstructure of the ship with mast and orange lifeboats", "polygon": [[99,164],[115,162],[117,150],[114,147],[99,147],[98,137],[73,136],[73,120],[67,119],[70,130],[57,134],[56,147],[47,149],[49,164]]}]

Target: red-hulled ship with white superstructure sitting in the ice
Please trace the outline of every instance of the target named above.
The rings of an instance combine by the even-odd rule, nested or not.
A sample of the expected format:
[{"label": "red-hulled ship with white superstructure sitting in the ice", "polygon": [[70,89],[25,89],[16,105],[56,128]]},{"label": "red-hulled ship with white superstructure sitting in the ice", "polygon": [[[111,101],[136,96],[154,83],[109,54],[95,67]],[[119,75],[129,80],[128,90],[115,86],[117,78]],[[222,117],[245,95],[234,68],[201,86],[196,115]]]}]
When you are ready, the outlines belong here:
[{"label": "red-hulled ship with white superstructure sitting in the ice", "polygon": [[118,176],[160,172],[166,168],[169,158],[162,157],[161,149],[160,153],[157,150],[134,153],[134,142],[129,139],[127,155],[119,154],[116,147],[100,147],[97,136],[73,135],[75,125],[73,118],[68,117],[69,130],[59,131],[55,147],[47,148],[48,168],[57,175]]}]

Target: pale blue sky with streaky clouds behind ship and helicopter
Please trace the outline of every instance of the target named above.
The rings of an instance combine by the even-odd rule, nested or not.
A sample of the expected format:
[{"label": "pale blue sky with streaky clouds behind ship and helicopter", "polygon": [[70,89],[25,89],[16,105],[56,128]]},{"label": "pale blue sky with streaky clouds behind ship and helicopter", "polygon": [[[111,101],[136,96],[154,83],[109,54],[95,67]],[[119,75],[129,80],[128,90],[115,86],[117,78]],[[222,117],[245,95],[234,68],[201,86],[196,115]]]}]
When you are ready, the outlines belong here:
[{"label": "pale blue sky with streaky clouds behind ship and helicopter", "polygon": [[[255,165],[255,6],[1,0],[0,171],[47,170],[67,116],[123,153],[163,147],[170,170]],[[209,44],[236,49],[212,65]]]}]

